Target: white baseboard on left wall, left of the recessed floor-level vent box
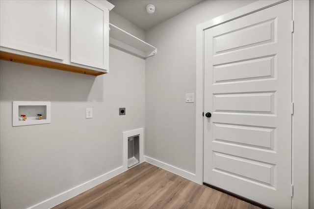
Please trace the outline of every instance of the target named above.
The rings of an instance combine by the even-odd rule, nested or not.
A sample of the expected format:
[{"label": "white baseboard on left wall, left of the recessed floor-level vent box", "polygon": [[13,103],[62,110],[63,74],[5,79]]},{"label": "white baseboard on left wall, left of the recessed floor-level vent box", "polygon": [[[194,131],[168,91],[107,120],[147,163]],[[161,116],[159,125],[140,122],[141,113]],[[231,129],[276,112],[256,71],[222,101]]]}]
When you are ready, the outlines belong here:
[{"label": "white baseboard on left wall, left of the recessed floor-level vent box", "polygon": [[112,171],[109,171],[99,177],[96,177],[95,179],[89,180],[85,183],[82,183],[74,188],[71,188],[67,191],[64,191],[54,197],[51,197],[47,200],[44,200],[41,203],[38,203],[36,205],[33,205],[31,207],[29,207],[28,209],[49,209],[52,208],[60,203],[63,203],[66,200],[71,199],[72,197],[77,196],[78,194],[93,188],[94,186],[97,186],[100,183],[103,183],[121,173],[125,172],[125,169],[123,168],[123,166],[120,166]]}]

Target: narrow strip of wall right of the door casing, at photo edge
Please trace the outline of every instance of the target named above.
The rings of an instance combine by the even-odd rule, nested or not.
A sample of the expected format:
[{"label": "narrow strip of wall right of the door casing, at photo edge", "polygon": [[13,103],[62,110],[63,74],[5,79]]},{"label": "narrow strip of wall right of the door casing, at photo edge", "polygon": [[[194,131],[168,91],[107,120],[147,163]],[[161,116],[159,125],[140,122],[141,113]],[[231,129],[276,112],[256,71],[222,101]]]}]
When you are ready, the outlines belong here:
[{"label": "narrow strip of wall right of the door casing, at photo edge", "polygon": [[310,209],[314,209],[314,0],[310,0]]}]

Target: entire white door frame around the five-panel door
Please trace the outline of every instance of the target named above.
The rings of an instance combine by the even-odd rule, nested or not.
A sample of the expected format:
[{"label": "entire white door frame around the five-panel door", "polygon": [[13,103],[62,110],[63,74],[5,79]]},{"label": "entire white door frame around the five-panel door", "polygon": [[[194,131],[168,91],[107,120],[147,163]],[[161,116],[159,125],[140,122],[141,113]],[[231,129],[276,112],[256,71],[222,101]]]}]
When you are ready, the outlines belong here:
[{"label": "entire white door frame around the five-panel door", "polygon": [[[258,0],[196,27],[195,181],[203,184],[204,30],[286,0]],[[309,0],[292,0],[292,208],[309,208]],[[291,23],[292,26],[292,23]]]}]

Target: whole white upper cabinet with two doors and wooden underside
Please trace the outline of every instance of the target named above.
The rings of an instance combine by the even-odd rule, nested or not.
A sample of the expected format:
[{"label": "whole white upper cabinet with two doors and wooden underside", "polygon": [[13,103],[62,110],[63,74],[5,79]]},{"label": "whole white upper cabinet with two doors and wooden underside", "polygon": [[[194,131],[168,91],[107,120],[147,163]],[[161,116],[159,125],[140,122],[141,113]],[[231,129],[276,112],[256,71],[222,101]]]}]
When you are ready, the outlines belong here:
[{"label": "whole white upper cabinet with two doors and wooden underside", "polygon": [[108,73],[113,7],[106,0],[0,0],[0,59]]}]

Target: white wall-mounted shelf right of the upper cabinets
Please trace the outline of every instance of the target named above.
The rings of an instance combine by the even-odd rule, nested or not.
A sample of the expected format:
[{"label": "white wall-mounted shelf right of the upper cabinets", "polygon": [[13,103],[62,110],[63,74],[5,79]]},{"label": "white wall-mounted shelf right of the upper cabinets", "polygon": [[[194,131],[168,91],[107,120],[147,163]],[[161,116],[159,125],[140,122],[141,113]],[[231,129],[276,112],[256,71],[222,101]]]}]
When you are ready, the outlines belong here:
[{"label": "white wall-mounted shelf right of the upper cabinets", "polygon": [[157,53],[157,48],[133,36],[131,33],[109,23],[109,45],[113,48],[129,52],[135,56],[146,59]]}]

